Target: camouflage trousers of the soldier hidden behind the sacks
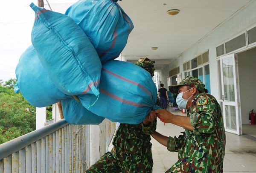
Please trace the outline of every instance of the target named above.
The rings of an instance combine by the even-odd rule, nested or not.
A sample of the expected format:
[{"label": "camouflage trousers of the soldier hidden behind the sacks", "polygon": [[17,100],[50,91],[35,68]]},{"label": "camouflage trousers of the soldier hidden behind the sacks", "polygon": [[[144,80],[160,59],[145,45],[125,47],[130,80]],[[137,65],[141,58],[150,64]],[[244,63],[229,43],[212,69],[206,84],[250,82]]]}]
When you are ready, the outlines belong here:
[{"label": "camouflage trousers of the soldier hidden behind the sacks", "polygon": [[85,173],[152,173],[152,162],[118,160],[111,152],[105,153]]}]

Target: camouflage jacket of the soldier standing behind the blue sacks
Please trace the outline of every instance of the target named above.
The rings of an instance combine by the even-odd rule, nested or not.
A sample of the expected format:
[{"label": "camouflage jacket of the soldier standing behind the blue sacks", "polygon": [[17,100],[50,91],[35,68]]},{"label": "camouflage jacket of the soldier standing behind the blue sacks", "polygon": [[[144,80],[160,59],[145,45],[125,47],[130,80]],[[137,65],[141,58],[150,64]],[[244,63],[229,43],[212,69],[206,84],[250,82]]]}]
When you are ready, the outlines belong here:
[{"label": "camouflage jacket of the soldier standing behind the blue sacks", "polygon": [[113,150],[116,159],[124,161],[149,162],[152,161],[151,137],[156,130],[157,119],[148,127],[140,124],[121,123],[113,139]]}]

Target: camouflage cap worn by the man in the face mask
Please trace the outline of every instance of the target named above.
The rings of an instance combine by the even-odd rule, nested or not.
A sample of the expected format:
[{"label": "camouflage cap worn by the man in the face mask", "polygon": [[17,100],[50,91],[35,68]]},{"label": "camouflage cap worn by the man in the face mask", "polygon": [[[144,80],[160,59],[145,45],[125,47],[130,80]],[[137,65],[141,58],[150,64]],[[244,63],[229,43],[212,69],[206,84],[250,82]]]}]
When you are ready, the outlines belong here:
[{"label": "camouflage cap worn by the man in the face mask", "polygon": [[192,77],[192,76],[186,76],[186,78],[184,78],[180,84],[178,85],[172,85],[169,86],[169,91],[172,92],[173,94],[178,94],[178,89],[179,86],[191,86],[191,87],[195,87],[196,89],[198,89],[198,91],[200,92],[204,92],[204,84],[202,81],[200,81],[200,79]]}]

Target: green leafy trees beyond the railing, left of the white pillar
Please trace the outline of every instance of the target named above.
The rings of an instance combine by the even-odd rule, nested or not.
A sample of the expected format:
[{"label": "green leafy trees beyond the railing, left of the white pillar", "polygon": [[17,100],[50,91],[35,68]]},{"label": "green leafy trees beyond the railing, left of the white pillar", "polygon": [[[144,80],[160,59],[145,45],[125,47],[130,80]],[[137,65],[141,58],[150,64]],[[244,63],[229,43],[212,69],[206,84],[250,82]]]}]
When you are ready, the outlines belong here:
[{"label": "green leafy trees beyond the railing, left of the white pillar", "polygon": [[35,113],[29,110],[36,108],[14,94],[12,84],[0,85],[0,144],[35,130]]}]

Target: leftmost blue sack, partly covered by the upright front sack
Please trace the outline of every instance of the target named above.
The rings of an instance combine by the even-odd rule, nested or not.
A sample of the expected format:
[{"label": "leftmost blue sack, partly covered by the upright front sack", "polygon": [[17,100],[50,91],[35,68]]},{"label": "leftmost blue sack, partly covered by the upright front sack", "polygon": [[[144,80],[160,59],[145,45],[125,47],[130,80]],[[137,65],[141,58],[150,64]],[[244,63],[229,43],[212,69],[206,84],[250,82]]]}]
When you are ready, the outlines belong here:
[{"label": "leftmost blue sack, partly covered by the upright front sack", "polygon": [[46,107],[70,97],[49,79],[32,45],[20,56],[15,74],[15,93],[20,92],[32,106]]}]

